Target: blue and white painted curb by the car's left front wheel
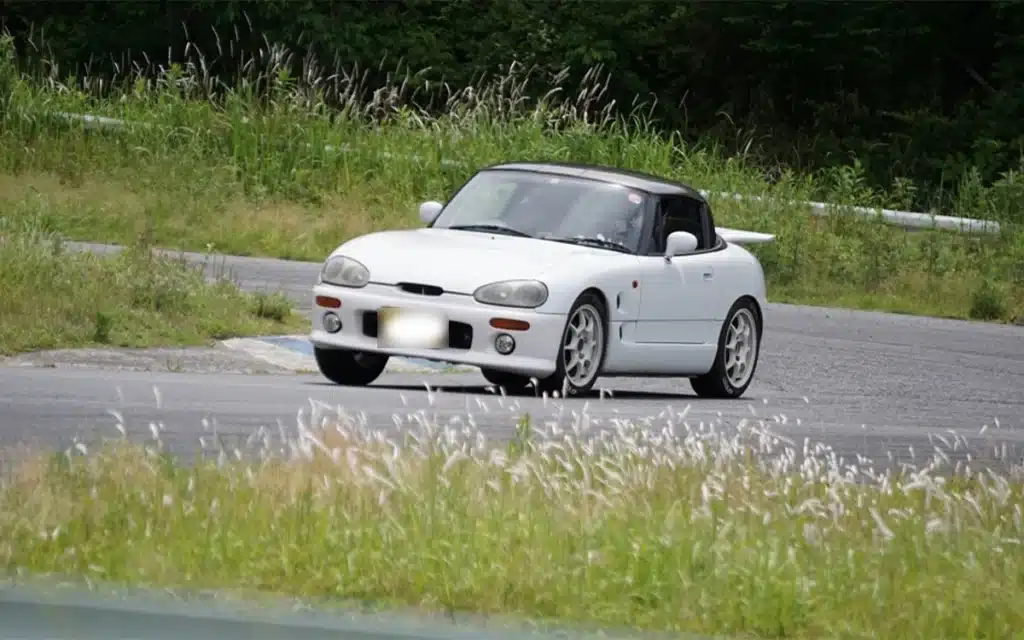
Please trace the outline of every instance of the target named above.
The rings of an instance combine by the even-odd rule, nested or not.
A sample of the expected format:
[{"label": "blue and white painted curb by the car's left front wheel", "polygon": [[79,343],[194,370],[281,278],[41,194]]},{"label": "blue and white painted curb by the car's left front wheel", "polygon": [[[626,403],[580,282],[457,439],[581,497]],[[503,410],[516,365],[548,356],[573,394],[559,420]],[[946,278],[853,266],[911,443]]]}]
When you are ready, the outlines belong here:
[{"label": "blue and white painted curb by the car's left front wheel", "polygon": [[[231,338],[221,341],[225,347],[243,351],[296,373],[315,373],[312,345],[306,336],[260,336],[258,338]],[[478,371],[475,367],[432,362],[419,358],[392,357],[388,360],[386,373],[402,374],[460,374]]]}]

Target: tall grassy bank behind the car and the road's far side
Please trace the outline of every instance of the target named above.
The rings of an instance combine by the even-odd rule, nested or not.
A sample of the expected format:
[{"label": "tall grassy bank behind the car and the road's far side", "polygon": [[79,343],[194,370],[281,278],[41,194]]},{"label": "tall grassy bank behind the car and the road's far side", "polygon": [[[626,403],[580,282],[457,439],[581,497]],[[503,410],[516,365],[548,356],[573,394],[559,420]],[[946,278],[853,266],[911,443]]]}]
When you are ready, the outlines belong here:
[{"label": "tall grassy bank behind the car and the road's far side", "polygon": [[[755,249],[773,300],[1024,319],[1024,187],[1016,174],[991,185],[968,179],[944,196],[959,215],[999,220],[999,237],[904,232],[843,213],[850,205],[906,206],[905,181],[880,193],[855,162],[804,176],[765,167],[753,152],[686,144],[657,133],[642,110],[621,115],[602,102],[596,73],[565,87],[561,77],[513,68],[475,87],[435,87],[428,113],[414,106],[426,72],[396,74],[370,92],[357,71],[308,57],[292,77],[292,54],[268,45],[241,60],[244,71],[226,86],[206,73],[207,61],[193,50],[181,63],[125,66],[102,82],[0,61],[0,207],[15,219],[42,216],[76,240],[143,234],[172,248],[318,261],[356,234],[417,225],[416,204],[443,200],[474,167],[592,162],[713,193],[775,197],[712,200],[720,224],[777,234],[777,244]],[[104,131],[54,112],[144,126]],[[735,146],[756,148],[749,141]],[[767,174],[777,179],[769,183]],[[792,204],[806,200],[836,203],[836,215],[814,217]]]}]

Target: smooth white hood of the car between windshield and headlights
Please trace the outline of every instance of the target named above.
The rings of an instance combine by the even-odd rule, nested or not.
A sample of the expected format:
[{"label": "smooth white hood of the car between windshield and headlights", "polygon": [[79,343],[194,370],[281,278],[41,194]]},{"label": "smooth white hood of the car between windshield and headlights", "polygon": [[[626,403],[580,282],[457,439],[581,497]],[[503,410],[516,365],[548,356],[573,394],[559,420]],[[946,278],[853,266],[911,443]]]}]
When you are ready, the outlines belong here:
[{"label": "smooth white hood of the car between windshield and headlights", "polygon": [[566,259],[598,253],[607,252],[531,238],[421,228],[360,236],[333,255],[361,262],[371,282],[418,283],[472,294],[487,283],[539,279]]}]

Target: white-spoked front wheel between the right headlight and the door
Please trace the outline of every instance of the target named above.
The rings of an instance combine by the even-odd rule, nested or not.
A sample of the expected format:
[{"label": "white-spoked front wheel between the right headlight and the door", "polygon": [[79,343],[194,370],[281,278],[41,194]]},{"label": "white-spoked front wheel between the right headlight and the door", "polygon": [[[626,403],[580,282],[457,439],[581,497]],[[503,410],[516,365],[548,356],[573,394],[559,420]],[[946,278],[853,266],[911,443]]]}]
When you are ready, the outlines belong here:
[{"label": "white-spoked front wheel between the right headlight and the door", "polygon": [[588,393],[604,365],[605,310],[601,298],[586,292],[569,309],[558,345],[555,373],[540,381],[540,391],[564,397]]}]

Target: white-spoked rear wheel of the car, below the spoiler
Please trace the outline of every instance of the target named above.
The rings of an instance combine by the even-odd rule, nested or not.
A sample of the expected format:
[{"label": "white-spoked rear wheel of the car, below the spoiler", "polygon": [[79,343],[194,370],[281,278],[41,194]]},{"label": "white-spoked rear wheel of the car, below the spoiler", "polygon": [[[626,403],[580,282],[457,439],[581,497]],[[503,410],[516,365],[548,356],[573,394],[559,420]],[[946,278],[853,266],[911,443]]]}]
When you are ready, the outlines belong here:
[{"label": "white-spoked rear wheel of the car, below the spoiler", "polygon": [[751,386],[760,351],[761,335],[754,303],[737,300],[722,325],[715,364],[707,374],[691,378],[690,386],[700,397],[739,397]]}]

